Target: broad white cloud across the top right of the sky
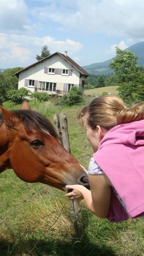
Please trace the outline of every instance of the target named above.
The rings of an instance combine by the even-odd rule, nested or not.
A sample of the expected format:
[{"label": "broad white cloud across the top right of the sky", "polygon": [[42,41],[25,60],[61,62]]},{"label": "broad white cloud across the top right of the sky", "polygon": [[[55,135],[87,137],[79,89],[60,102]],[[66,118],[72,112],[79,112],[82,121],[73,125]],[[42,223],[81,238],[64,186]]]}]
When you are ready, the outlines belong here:
[{"label": "broad white cloud across the top right of the sky", "polygon": [[49,1],[44,7],[34,8],[33,15],[90,33],[144,37],[143,0],[71,0]]}]

